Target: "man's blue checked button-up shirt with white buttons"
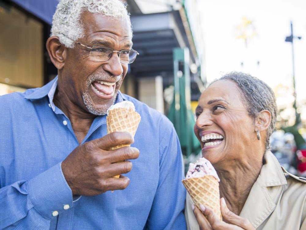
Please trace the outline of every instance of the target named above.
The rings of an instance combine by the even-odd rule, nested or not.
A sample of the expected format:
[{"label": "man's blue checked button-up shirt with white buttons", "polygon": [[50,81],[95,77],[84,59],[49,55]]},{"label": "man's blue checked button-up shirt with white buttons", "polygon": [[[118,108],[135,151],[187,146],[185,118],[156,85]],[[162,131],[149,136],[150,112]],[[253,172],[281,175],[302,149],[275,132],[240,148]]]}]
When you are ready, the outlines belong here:
[{"label": "man's blue checked button-up shirt with white buttons", "polygon": [[[73,197],[61,162],[79,144],[47,85],[0,97],[0,229],[186,229],[180,144],[172,123],[129,100],[141,121],[132,146],[140,151],[125,174],[125,190]],[[93,121],[83,142],[107,134],[106,116]]]}]

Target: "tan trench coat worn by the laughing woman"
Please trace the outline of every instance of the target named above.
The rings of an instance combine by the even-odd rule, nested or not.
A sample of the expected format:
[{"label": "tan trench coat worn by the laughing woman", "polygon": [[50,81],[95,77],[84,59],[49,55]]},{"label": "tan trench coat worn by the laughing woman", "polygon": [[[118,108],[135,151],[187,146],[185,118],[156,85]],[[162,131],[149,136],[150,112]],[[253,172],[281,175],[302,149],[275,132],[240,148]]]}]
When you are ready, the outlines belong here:
[{"label": "tan trench coat worn by the laughing woman", "polygon": [[[260,230],[306,230],[306,179],[289,174],[273,153],[265,154],[266,164],[252,186],[240,216]],[[185,217],[188,230],[198,230],[187,194]]]}]

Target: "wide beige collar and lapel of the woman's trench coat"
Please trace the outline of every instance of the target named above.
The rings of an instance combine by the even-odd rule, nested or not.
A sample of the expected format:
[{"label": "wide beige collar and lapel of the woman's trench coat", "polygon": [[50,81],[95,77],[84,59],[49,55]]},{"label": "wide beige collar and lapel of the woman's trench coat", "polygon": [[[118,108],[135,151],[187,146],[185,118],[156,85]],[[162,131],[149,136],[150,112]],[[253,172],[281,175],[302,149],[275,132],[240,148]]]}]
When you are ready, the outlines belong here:
[{"label": "wide beige collar and lapel of the woman's trench coat", "polygon": [[252,186],[240,213],[240,216],[248,218],[255,228],[267,219],[276,206],[275,203],[280,190],[270,190],[268,187],[287,183],[282,168],[273,153],[266,151],[264,158],[266,164],[261,168],[260,174]]}]

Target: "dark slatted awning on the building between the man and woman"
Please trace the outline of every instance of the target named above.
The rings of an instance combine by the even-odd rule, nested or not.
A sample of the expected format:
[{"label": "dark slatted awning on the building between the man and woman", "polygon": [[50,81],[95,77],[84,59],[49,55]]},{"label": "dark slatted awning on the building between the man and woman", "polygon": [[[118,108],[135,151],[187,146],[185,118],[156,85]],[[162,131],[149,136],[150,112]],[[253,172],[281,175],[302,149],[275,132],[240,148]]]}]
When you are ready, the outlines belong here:
[{"label": "dark slatted awning on the building between the man and woman", "polygon": [[[131,64],[132,74],[138,77],[161,75],[173,78],[173,49],[188,47],[179,11],[131,15],[133,49],[139,56]],[[191,52],[190,58],[195,62]]]}]

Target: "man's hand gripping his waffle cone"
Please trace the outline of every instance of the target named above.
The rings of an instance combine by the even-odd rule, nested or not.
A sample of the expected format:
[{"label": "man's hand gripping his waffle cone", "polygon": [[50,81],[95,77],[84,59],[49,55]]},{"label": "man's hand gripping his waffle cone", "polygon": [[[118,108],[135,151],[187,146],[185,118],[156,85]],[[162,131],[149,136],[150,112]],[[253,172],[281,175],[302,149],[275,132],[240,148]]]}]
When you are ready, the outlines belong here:
[{"label": "man's hand gripping his waffle cone", "polygon": [[94,196],[108,190],[125,189],[129,178],[113,176],[131,171],[132,162],[126,160],[136,159],[139,150],[110,148],[133,142],[134,138],[128,132],[112,132],[75,148],[62,162],[62,171],[73,195]]}]

